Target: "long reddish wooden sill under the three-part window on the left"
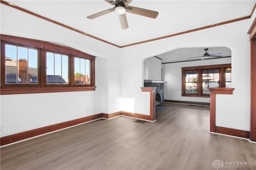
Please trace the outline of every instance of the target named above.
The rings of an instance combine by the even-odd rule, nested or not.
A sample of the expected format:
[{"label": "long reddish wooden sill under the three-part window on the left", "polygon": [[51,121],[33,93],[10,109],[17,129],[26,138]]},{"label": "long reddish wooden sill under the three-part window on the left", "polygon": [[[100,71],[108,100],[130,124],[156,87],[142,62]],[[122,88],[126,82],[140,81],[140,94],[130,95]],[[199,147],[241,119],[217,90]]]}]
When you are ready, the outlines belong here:
[{"label": "long reddish wooden sill under the three-part window on the left", "polygon": [[23,87],[23,88],[1,88],[0,94],[32,94],[32,93],[55,93],[55,92],[82,92],[95,91],[93,87]]}]

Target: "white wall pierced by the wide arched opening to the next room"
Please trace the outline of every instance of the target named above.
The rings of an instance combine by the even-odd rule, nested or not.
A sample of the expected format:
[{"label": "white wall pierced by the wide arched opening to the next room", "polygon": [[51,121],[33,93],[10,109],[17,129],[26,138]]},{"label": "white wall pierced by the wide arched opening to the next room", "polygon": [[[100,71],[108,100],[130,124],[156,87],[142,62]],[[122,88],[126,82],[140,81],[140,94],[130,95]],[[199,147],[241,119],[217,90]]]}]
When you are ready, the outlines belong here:
[{"label": "white wall pierced by the wide arched opening to the next room", "polygon": [[[232,51],[232,87],[235,88],[235,90],[233,95],[220,95],[217,98],[218,109],[216,111],[216,123],[218,123],[217,125],[219,126],[248,131],[250,115],[250,45],[247,31],[249,27],[250,20],[242,20],[122,48],[121,96],[135,98],[135,106],[142,102],[143,97],[138,94],[137,89],[143,86],[143,64],[144,59],[148,57],[156,56],[177,48],[228,47]],[[134,61],[137,62],[134,63]],[[132,68],[132,70],[130,70],[130,68]],[[132,81],[126,79],[125,77],[127,76],[131,76]],[[181,80],[179,79],[177,81]],[[229,110],[228,113],[226,111],[227,106]],[[143,110],[142,107],[143,106],[135,107],[135,112],[140,113]],[[227,121],[226,117],[230,114],[232,114],[229,118],[231,120]]]}]

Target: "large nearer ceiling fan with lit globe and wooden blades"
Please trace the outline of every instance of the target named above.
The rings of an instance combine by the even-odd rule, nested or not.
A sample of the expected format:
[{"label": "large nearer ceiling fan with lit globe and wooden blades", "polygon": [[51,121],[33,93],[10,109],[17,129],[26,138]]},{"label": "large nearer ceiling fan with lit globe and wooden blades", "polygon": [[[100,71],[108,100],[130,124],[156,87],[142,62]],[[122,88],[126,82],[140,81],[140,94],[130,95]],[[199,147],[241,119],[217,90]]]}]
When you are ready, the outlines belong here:
[{"label": "large nearer ceiling fan with lit globe and wooden blades", "polygon": [[146,9],[138,8],[134,6],[128,6],[128,4],[132,2],[132,0],[105,0],[105,1],[110,3],[111,5],[114,5],[114,7],[108,10],[104,10],[102,12],[98,12],[91,16],[88,16],[87,18],[94,19],[114,11],[119,16],[122,29],[126,29],[128,28],[128,22],[125,14],[126,12],[149,17],[149,18],[154,18],[154,19],[158,16],[158,12],[156,11],[146,10]]}]

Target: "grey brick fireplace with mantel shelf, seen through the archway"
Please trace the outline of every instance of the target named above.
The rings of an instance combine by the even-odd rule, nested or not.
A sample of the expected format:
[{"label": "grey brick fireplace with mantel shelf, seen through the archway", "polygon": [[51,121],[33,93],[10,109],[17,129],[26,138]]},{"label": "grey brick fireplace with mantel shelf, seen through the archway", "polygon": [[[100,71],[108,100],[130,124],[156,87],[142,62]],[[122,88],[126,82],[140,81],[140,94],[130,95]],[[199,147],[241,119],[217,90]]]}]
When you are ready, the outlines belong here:
[{"label": "grey brick fireplace with mantel shelf, seen through the archway", "polygon": [[164,106],[164,81],[144,80],[144,87],[156,87],[156,106]]}]

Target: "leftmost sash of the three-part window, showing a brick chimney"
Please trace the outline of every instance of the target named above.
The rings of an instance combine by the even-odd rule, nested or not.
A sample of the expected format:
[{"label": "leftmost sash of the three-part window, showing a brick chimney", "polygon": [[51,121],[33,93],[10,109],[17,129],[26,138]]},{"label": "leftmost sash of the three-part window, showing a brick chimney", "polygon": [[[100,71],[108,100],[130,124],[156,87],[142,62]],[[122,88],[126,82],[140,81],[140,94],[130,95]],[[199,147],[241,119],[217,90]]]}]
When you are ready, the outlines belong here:
[{"label": "leftmost sash of the three-part window, showing a brick chimney", "polygon": [[10,87],[38,86],[38,49],[6,43],[3,51],[4,84]]}]

